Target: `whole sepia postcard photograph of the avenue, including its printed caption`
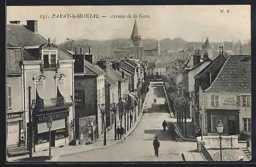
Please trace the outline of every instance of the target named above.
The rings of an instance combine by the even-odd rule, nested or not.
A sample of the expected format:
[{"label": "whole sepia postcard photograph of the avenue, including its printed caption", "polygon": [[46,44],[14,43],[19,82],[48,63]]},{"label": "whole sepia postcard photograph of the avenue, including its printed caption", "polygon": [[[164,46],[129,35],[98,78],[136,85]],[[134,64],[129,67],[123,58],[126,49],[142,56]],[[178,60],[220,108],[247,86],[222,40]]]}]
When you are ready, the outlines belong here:
[{"label": "whole sepia postcard photograph of the avenue, including its printed caption", "polygon": [[7,6],[6,163],[251,159],[251,6]]}]

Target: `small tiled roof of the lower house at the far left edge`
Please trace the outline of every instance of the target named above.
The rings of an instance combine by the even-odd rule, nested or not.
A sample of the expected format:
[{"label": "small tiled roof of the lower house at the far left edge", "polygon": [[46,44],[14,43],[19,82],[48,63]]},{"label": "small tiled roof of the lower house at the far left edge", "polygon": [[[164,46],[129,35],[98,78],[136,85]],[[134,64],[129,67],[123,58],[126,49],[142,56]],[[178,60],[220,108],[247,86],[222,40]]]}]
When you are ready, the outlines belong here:
[{"label": "small tiled roof of the lower house at the far left edge", "polygon": [[20,60],[22,60],[22,49],[7,47],[6,54],[7,74],[22,73],[22,69],[19,65]]}]

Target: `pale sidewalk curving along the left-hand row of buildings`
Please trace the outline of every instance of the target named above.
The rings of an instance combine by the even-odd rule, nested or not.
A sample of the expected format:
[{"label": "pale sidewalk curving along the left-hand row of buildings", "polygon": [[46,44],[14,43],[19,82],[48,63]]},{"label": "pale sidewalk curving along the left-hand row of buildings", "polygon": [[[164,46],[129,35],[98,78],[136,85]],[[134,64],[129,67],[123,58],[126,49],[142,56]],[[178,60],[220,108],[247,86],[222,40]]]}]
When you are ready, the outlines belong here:
[{"label": "pale sidewalk curving along the left-hand row of buildings", "polygon": [[[78,146],[64,146],[61,148],[51,148],[51,155],[52,159],[48,160],[49,157],[49,149],[47,151],[39,151],[35,152],[32,155],[32,158],[29,158],[29,155],[24,156],[18,156],[18,157],[8,157],[8,162],[42,162],[42,161],[52,161],[56,162],[59,160],[59,157],[65,157],[68,155],[74,155],[79,153],[85,153],[90,151],[95,151],[99,149],[104,149],[110,146],[113,146],[121,141],[123,141],[127,136],[129,136],[135,128],[140,123],[141,117],[143,115],[143,109],[146,108],[146,102],[147,102],[147,94],[145,96],[144,104],[142,105],[142,109],[140,112],[140,115],[137,115],[137,121],[136,123],[133,123],[133,127],[129,129],[129,131],[126,131],[126,133],[122,136],[122,139],[115,140],[115,129],[112,128],[111,130],[106,132],[106,146],[103,146],[103,137],[98,138],[93,144],[90,145],[78,145]],[[124,118],[123,118],[124,119]],[[124,120],[122,121],[122,124],[124,124]],[[120,124],[117,124],[119,126]]]}]

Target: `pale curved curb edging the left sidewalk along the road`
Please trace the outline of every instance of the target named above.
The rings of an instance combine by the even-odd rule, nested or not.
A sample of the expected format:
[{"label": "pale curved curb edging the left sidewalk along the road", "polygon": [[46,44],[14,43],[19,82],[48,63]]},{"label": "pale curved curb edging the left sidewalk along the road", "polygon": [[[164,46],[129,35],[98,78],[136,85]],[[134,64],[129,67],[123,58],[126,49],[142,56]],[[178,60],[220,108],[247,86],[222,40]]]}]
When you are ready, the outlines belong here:
[{"label": "pale curved curb edging the left sidewalk along the road", "polygon": [[138,122],[134,125],[134,128],[133,128],[131,131],[129,131],[128,133],[126,133],[127,135],[126,135],[126,136],[123,136],[122,139],[120,139],[120,140],[118,140],[118,141],[116,141],[116,142],[113,142],[113,144],[108,145],[108,146],[104,146],[104,147],[100,147],[100,148],[91,149],[91,150],[86,150],[86,151],[81,151],[81,152],[76,152],[76,153],[71,153],[71,154],[60,155],[59,157],[65,157],[65,156],[69,156],[69,155],[87,153],[87,152],[91,152],[91,151],[96,151],[96,150],[108,148],[108,147],[111,147],[111,146],[113,146],[113,145],[115,145],[115,144],[118,144],[119,142],[123,141],[126,137],[128,137],[129,135],[131,135],[131,133],[136,129],[136,127],[139,125],[139,123],[140,123],[140,121],[141,121],[142,115],[143,115],[143,112],[141,112],[140,118],[139,118]]}]

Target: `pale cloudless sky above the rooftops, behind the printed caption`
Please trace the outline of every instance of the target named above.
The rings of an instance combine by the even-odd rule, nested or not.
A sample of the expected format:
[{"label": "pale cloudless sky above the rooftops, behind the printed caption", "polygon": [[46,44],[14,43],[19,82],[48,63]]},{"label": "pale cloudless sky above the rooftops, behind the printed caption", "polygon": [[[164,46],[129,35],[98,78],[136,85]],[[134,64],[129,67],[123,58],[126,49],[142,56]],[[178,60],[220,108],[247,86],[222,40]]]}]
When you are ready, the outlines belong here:
[{"label": "pale cloudless sky above the rooftops, behind the printed caption", "polygon": [[[221,13],[223,10],[223,13]],[[135,18],[142,38],[183,38],[186,41],[247,41],[251,39],[250,5],[182,6],[8,6],[6,21],[38,21],[38,33],[70,39],[130,38]],[[70,18],[57,18],[69,14]],[[98,14],[99,18],[72,18],[72,15]],[[127,17],[128,14],[132,18]],[[47,18],[43,19],[43,15]],[[124,15],[125,18],[113,18]],[[139,18],[148,15],[149,18]],[[106,17],[102,17],[106,16]],[[111,17],[112,16],[112,17]],[[49,18],[48,18],[49,17]]]}]

